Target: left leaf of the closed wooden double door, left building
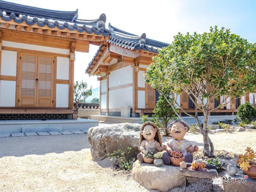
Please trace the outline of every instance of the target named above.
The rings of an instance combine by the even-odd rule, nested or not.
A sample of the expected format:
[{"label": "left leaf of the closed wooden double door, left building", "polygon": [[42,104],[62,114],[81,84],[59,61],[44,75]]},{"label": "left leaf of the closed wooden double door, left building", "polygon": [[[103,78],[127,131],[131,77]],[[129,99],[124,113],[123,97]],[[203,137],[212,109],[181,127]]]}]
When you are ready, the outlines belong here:
[{"label": "left leaf of the closed wooden double door, left building", "polygon": [[36,107],[36,55],[21,54],[19,106]]}]

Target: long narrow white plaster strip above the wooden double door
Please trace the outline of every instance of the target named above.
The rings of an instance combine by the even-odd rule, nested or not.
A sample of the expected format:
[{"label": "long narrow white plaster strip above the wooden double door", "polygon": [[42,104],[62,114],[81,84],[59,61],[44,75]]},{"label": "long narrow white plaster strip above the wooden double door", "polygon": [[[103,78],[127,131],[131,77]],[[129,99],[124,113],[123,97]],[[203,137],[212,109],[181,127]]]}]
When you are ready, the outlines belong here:
[{"label": "long narrow white plaster strip above the wooden double door", "polygon": [[17,42],[11,42],[11,41],[2,41],[2,46],[15,47],[15,48],[20,48],[20,49],[30,49],[30,50],[36,50],[36,51],[44,51],[44,52],[52,52],[52,53],[62,53],[62,54],[69,55],[68,49],[45,47],[45,46],[41,46],[41,45],[32,45],[32,44],[17,43]]}]

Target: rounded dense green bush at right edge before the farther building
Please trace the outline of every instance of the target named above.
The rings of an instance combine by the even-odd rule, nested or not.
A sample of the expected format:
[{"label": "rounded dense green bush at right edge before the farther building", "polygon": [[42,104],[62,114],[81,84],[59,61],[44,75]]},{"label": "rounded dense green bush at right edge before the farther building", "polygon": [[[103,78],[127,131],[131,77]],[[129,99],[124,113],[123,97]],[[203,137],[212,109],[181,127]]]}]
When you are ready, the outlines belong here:
[{"label": "rounded dense green bush at right edge before the farther building", "polygon": [[256,119],[256,109],[249,103],[245,102],[237,109],[237,116],[246,124],[249,124]]}]

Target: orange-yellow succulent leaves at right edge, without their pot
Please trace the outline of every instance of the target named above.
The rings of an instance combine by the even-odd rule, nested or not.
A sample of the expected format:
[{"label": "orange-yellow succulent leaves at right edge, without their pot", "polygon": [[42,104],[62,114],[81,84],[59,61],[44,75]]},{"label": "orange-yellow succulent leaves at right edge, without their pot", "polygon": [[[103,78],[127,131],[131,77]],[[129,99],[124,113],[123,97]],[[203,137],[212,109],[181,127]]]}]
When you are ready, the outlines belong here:
[{"label": "orange-yellow succulent leaves at right edge, without their pot", "polygon": [[238,155],[236,163],[239,164],[243,171],[248,171],[248,168],[251,167],[250,164],[256,164],[256,152],[254,152],[250,147],[247,147],[245,151],[245,154]]}]

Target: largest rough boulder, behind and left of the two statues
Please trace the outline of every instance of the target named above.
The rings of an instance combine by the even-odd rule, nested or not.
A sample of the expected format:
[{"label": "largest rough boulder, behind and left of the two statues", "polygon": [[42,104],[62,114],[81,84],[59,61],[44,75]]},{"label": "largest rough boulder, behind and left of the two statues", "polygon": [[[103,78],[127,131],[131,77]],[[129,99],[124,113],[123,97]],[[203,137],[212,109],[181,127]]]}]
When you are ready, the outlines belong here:
[{"label": "largest rough boulder, behind and left of the two statues", "polygon": [[127,152],[132,148],[131,156],[139,153],[140,124],[109,124],[92,127],[88,130],[88,140],[91,148],[92,160],[103,160],[108,153],[118,149]]}]

